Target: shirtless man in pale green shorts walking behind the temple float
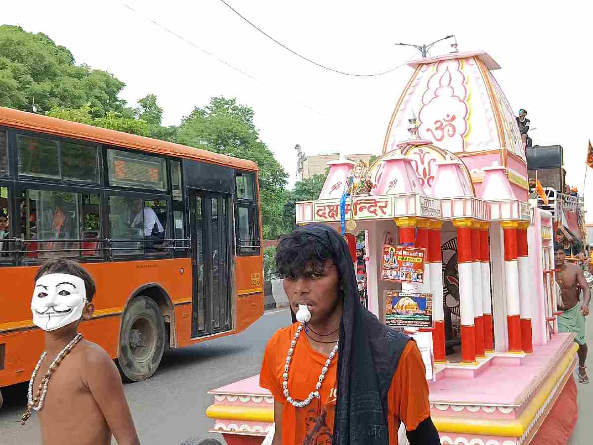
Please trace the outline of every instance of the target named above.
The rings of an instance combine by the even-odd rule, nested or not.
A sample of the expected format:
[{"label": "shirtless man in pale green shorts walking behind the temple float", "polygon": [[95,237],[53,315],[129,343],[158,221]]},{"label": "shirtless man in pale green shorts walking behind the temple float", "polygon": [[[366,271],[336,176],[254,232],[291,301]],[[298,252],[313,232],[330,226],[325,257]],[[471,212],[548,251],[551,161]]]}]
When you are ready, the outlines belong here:
[{"label": "shirtless man in pale green shorts walking behind the temple float", "polygon": [[[589,301],[591,291],[583,275],[583,271],[575,264],[565,262],[566,254],[560,243],[554,243],[554,263],[556,269],[556,282],[560,286],[562,303],[558,309],[563,313],[558,317],[558,330],[560,332],[575,332],[575,341],[579,344],[579,382],[589,383],[585,370],[587,358],[587,344],[585,342],[585,317],[589,315]],[[583,303],[579,305],[579,294],[583,292]]]}]

